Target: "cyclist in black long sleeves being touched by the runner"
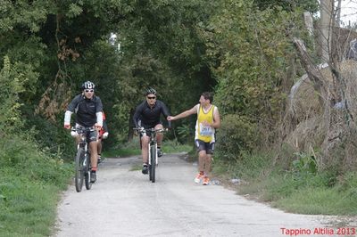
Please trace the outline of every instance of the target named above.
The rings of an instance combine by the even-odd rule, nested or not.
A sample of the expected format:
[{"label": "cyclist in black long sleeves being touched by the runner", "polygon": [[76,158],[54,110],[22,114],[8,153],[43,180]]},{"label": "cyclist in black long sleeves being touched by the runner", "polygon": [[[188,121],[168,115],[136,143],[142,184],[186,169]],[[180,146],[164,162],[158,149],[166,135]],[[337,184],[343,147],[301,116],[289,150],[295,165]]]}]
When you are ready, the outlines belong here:
[{"label": "cyclist in black long sleeves being touched by the runner", "polygon": [[[142,103],[140,103],[137,106],[137,109],[135,110],[134,113],[134,125],[135,127],[138,128],[152,128],[154,127],[155,129],[160,129],[162,127],[162,121],[160,119],[161,114],[165,118],[170,116],[170,112],[167,109],[166,105],[162,102],[156,99],[156,90],[153,88],[149,88],[146,93],[145,93],[146,100]],[[171,127],[171,122],[168,122],[168,127]],[[156,136],[156,141],[157,141],[157,155],[159,157],[162,156],[162,151],[161,151],[161,145],[162,145],[162,134],[158,134]],[[148,135],[143,135],[140,134],[140,139],[141,139],[141,154],[143,156],[143,174],[148,173],[148,168],[147,168],[147,158],[148,158],[148,143],[149,143],[149,136]]]}]

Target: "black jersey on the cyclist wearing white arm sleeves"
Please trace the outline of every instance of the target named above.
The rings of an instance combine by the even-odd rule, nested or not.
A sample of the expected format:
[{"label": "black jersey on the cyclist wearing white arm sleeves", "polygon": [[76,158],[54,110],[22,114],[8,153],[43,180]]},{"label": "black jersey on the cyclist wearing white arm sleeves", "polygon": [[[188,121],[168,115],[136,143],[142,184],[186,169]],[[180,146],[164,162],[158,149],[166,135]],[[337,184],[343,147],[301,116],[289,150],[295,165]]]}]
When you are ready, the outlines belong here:
[{"label": "black jersey on the cyclist wearing white arm sleeves", "polygon": [[97,112],[102,112],[103,104],[98,96],[87,99],[85,95],[79,94],[68,105],[67,110],[75,112],[76,123],[83,127],[92,127],[96,123]]}]

